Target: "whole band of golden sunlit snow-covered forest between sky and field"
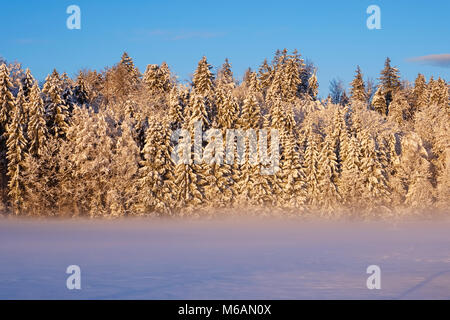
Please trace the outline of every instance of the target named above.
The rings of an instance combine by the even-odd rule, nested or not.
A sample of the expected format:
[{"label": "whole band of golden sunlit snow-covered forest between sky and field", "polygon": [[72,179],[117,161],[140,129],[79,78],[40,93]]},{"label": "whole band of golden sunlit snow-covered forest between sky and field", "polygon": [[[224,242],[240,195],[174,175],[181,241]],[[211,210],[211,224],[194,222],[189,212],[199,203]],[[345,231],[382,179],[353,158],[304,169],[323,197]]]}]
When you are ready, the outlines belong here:
[{"label": "whole band of golden sunlit snow-covered forest between sky and field", "polygon": [[[380,62],[382,67],[382,61]],[[1,211],[11,215],[198,216],[210,211],[394,216],[448,212],[450,103],[444,79],[402,80],[386,59],[377,83],[359,67],[347,93],[319,99],[316,67],[277,51],[233,77],[203,57],[189,85],[166,63],[144,73],[126,53],[42,86],[0,66]],[[176,129],[275,128],[280,170],[175,164]],[[230,211],[230,212],[231,212]],[[227,211],[228,212],[228,211]]]}]

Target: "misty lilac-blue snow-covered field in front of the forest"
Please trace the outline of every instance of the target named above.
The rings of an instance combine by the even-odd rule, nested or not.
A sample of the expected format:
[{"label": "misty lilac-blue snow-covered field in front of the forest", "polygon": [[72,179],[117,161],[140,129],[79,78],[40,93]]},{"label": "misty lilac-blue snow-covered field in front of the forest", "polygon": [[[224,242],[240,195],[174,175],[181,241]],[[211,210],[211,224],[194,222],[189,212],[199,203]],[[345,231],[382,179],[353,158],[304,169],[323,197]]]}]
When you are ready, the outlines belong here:
[{"label": "misty lilac-blue snow-covered field in front of the forest", "polygon": [[0,298],[449,299],[450,221],[2,218]]}]

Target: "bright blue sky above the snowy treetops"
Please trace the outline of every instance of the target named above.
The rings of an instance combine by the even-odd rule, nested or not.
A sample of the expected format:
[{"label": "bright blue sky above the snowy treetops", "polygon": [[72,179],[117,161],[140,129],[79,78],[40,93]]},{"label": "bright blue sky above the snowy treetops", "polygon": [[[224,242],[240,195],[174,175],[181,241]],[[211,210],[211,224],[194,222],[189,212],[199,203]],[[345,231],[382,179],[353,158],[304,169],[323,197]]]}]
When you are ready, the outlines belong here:
[{"label": "bright blue sky above the snowy treetops", "polygon": [[[81,8],[81,30],[66,27],[66,8]],[[369,5],[381,9],[381,30],[369,30]],[[56,68],[112,66],[127,51],[141,71],[166,61],[188,79],[206,55],[214,67],[229,58],[236,76],[258,68],[276,49],[297,48],[318,67],[320,94],[329,81],[348,84],[359,64],[377,78],[386,56],[413,81],[418,72],[450,80],[450,65],[408,59],[450,53],[450,1],[5,1],[0,55],[29,67],[39,80]]]}]

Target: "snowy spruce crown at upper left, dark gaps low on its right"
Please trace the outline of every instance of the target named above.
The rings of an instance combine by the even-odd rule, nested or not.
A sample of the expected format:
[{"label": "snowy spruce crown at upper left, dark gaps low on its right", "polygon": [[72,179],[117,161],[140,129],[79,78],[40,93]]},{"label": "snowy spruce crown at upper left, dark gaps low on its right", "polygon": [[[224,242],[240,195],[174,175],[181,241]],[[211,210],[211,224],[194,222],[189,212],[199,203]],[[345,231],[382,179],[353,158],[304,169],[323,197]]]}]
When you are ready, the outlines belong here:
[{"label": "snowy spruce crown at upper left, dark gaps low on its right", "polygon": [[69,127],[69,112],[61,98],[61,79],[56,70],[53,71],[51,76],[47,76],[42,93],[45,96],[44,104],[49,132],[57,138],[63,138]]}]

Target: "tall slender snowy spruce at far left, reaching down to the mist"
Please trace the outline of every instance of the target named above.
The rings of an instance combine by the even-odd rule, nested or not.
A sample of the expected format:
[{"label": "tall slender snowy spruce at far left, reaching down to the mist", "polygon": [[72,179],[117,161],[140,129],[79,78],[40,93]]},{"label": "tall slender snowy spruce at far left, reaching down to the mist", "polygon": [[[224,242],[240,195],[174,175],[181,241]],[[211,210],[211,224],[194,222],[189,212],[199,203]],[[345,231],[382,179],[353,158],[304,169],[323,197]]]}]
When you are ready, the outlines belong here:
[{"label": "tall slender snowy spruce at far left, reaching down to the mist", "polygon": [[[20,93],[23,95],[23,92]],[[16,106],[13,111],[11,123],[6,126],[6,147],[8,149],[6,158],[8,160],[8,196],[12,210],[15,214],[19,214],[23,206],[24,196],[24,159],[27,141],[23,133],[22,124],[23,110],[20,105]]]}]

